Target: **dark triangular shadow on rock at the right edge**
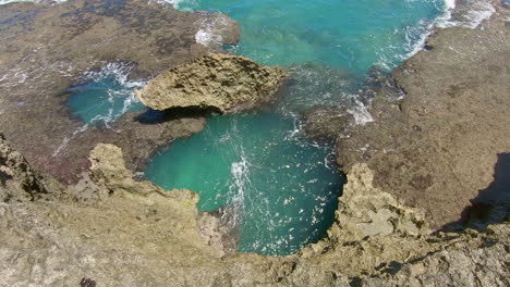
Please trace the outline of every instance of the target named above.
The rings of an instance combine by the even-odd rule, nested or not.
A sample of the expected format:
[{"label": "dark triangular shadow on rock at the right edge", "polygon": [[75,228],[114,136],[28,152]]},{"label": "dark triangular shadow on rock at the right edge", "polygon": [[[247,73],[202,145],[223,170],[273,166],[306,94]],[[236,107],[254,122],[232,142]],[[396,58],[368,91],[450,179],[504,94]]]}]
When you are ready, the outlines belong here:
[{"label": "dark triangular shadow on rock at the right edge", "polygon": [[462,211],[459,221],[445,225],[441,230],[466,227],[485,229],[490,224],[510,220],[510,153],[498,154],[494,182],[486,189],[479,190],[471,203]]}]

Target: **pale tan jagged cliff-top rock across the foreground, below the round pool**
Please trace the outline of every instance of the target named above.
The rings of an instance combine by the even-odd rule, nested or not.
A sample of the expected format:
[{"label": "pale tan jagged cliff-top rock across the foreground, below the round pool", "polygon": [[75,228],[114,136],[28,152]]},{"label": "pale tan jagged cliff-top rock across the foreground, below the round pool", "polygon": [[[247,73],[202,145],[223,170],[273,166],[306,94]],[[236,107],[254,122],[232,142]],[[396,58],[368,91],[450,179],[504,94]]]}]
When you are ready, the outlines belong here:
[{"label": "pale tan jagged cliff-top rock across the foreground, below the round pool", "polygon": [[509,283],[508,224],[429,235],[420,211],[372,186],[365,164],[353,166],[328,238],[293,255],[264,257],[218,250],[201,234],[198,196],[135,182],[120,148],[98,145],[89,160],[88,189],[0,203],[0,286]]}]

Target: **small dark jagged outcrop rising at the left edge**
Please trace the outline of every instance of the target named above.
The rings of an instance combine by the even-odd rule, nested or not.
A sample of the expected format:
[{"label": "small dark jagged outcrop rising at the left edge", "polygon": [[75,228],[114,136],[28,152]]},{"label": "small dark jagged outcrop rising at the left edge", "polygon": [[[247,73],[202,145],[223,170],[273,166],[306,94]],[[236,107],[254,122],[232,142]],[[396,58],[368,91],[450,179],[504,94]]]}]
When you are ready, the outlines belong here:
[{"label": "small dark jagged outcrop rising at the left edge", "polygon": [[0,134],[0,202],[33,200],[47,192],[40,175]]}]

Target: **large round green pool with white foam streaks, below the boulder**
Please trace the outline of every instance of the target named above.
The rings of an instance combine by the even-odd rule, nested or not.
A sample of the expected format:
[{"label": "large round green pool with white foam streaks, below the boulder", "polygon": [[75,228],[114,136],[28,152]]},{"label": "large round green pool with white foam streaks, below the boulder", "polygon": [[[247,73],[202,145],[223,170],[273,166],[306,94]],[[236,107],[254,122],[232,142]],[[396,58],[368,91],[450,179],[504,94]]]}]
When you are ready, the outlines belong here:
[{"label": "large round green pool with white foam streaks, below the boulder", "polygon": [[328,147],[298,138],[279,114],[212,116],[204,132],[154,158],[147,177],[201,195],[198,209],[228,207],[239,251],[287,254],[331,225],[342,178]]}]

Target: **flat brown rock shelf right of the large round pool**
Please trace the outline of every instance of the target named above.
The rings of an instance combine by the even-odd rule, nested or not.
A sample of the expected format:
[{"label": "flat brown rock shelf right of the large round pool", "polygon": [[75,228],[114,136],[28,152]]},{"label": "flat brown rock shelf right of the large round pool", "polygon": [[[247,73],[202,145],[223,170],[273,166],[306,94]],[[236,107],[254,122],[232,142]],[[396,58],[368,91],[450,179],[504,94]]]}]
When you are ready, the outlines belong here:
[{"label": "flat brown rock shelf right of the large round pool", "polygon": [[510,173],[499,169],[510,152],[510,10],[490,2],[496,12],[477,28],[436,30],[393,72],[403,99],[376,97],[375,121],[338,140],[347,173],[367,163],[376,186],[423,209],[436,229],[454,227],[472,203],[509,210],[508,185],[489,185]]}]

